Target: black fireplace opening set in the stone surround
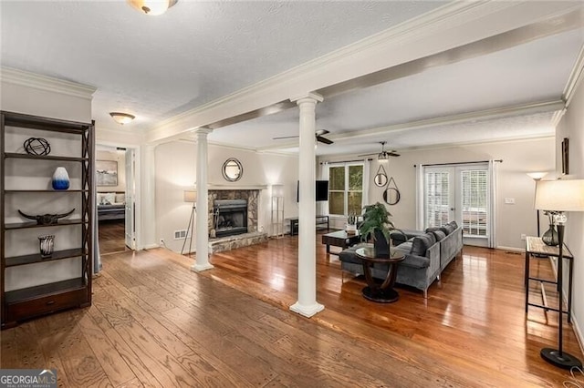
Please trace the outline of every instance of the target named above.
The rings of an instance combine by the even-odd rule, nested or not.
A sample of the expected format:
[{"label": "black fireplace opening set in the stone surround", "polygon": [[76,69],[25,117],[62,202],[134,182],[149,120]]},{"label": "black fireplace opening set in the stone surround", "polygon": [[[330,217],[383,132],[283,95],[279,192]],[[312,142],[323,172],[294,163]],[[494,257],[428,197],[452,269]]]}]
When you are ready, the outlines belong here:
[{"label": "black fireplace opening set in the stone surround", "polygon": [[213,221],[216,237],[247,233],[247,199],[215,199]]}]

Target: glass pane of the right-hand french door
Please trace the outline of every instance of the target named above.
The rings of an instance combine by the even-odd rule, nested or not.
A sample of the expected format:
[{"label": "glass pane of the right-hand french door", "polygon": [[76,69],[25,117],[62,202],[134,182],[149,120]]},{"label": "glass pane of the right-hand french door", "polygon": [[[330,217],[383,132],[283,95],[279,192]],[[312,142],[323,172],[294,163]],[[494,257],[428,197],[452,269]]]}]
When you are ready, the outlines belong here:
[{"label": "glass pane of the right-hand french door", "polygon": [[464,234],[486,236],[487,171],[464,170],[461,179]]}]

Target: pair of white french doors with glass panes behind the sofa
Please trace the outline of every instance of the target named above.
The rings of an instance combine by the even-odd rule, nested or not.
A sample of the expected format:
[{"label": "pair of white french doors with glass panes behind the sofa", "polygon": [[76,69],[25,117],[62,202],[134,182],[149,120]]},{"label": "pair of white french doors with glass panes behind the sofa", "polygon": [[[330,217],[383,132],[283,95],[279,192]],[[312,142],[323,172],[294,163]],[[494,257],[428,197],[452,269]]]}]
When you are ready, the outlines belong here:
[{"label": "pair of white french doors with glass panes behind the sofa", "polygon": [[463,227],[464,244],[491,246],[490,180],[487,163],[424,167],[424,229],[455,220]]}]

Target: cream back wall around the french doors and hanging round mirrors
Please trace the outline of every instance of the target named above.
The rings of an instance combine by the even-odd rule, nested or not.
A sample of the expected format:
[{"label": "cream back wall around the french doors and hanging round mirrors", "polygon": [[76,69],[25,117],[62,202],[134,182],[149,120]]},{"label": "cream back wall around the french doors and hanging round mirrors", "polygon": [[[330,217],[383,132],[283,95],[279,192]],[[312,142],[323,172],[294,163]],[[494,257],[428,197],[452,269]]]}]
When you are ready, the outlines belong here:
[{"label": "cream back wall around the french doors and hanging round mirrors", "polygon": [[[345,159],[352,158],[345,156]],[[503,163],[497,164],[496,244],[498,247],[523,249],[521,234],[537,234],[537,216],[533,208],[535,182],[527,172],[555,169],[554,138],[401,152],[401,157],[391,158],[390,163],[384,165],[388,178],[393,177],[401,193],[400,201],[388,206],[396,228],[413,230],[416,226],[414,165],[489,159],[503,159]],[[379,163],[375,159],[371,161],[370,203],[383,202],[383,189],[373,183]],[[505,198],[514,198],[515,204],[506,205]]]}]

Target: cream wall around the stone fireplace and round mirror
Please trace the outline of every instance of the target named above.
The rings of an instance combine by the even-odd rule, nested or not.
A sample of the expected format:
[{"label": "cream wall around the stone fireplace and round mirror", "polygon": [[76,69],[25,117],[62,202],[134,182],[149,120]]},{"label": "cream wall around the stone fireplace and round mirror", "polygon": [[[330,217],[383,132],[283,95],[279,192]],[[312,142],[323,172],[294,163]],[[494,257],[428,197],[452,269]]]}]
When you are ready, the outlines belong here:
[{"label": "cream wall around the stone fireplace and round mirror", "polygon": [[[181,251],[183,240],[174,240],[175,230],[185,230],[189,223],[191,204],[183,201],[183,190],[193,189],[196,177],[196,143],[174,141],[155,148],[156,165],[156,236],[167,248]],[[227,182],[221,168],[227,158],[237,158],[244,168],[241,179]],[[209,145],[210,185],[269,185],[283,184],[285,191],[285,218],[297,216],[296,188],[298,179],[297,156],[257,153],[239,148]],[[269,232],[269,188],[261,192],[258,229]],[[196,224],[194,226],[196,233]],[[207,232],[206,227],[203,229]],[[195,248],[193,236],[193,250]],[[189,242],[187,241],[188,249]]]}]

